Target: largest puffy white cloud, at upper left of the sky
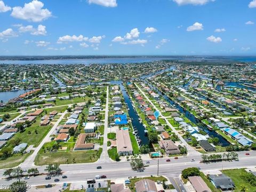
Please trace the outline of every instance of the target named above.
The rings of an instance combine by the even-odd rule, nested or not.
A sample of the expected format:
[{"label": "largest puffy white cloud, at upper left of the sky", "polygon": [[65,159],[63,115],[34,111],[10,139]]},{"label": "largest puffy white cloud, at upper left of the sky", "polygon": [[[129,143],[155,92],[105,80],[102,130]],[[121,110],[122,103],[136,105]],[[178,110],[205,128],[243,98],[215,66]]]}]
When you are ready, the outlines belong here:
[{"label": "largest puffy white cloud, at upper left of the sky", "polygon": [[33,0],[30,3],[25,3],[24,7],[13,7],[11,16],[17,19],[40,22],[52,17],[52,13],[49,10],[42,9],[43,6],[42,2]]}]

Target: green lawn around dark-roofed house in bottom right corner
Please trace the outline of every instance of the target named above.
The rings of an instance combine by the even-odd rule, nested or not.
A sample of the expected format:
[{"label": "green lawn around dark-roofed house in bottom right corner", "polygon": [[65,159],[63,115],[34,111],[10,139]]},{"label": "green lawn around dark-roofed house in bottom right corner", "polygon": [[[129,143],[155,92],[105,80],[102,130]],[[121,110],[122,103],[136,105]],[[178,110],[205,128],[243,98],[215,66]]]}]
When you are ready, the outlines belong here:
[{"label": "green lawn around dark-roofed house in bottom right corner", "polygon": [[245,185],[248,189],[248,191],[255,191],[256,187],[252,186],[249,182],[245,181],[241,174],[245,173],[246,171],[244,169],[233,169],[233,170],[223,170],[222,173],[229,176],[233,182],[235,183],[235,192],[239,192],[241,190],[241,185]]}]

